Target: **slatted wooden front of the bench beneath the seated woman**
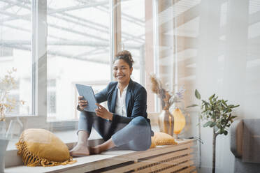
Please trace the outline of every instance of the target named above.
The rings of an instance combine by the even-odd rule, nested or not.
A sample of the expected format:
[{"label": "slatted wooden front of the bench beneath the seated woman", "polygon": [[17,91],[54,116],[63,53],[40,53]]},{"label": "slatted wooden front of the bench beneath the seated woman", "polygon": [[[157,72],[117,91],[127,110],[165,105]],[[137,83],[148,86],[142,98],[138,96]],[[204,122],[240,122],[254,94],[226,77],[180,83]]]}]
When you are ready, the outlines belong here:
[{"label": "slatted wooden front of the bench beneath the seated woman", "polygon": [[75,158],[73,165],[56,167],[9,167],[5,172],[196,172],[192,160],[194,140],[177,145],[157,146],[147,151],[106,151]]}]

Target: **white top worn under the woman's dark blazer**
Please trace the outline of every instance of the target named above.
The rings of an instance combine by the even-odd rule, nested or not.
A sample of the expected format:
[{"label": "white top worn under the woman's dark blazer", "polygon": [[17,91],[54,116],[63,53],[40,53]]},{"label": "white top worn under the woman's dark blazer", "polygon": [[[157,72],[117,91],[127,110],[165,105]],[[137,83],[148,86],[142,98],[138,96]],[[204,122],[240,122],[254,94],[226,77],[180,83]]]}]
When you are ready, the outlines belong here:
[{"label": "white top worn under the woman's dark blazer", "polygon": [[127,87],[124,88],[122,95],[120,96],[120,89],[117,84],[117,103],[115,104],[115,114],[126,116],[127,117],[127,108],[126,108],[126,96],[127,96]]}]

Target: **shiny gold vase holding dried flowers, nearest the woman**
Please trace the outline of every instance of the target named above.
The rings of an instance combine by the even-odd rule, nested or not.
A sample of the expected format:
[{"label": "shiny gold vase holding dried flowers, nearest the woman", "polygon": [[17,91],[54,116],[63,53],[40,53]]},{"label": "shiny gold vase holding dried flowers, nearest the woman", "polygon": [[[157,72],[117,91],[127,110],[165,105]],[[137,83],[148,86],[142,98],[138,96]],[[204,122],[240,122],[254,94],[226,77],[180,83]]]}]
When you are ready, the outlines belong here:
[{"label": "shiny gold vase holding dried flowers, nearest the woman", "polygon": [[174,119],[173,115],[169,110],[162,110],[159,114],[158,124],[160,132],[167,133],[168,135],[173,135]]}]

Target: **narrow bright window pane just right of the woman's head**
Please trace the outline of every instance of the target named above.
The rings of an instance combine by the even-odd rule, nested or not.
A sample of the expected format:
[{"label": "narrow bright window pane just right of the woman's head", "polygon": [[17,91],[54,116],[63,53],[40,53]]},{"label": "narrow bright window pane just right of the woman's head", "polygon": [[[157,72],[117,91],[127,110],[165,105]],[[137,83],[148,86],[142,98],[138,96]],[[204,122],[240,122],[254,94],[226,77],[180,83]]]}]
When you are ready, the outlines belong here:
[{"label": "narrow bright window pane just right of the woman's head", "polygon": [[[133,56],[131,78],[145,84],[145,1],[121,1],[122,50],[129,50]],[[143,71],[142,71],[143,70]],[[142,76],[143,75],[143,76]]]}]

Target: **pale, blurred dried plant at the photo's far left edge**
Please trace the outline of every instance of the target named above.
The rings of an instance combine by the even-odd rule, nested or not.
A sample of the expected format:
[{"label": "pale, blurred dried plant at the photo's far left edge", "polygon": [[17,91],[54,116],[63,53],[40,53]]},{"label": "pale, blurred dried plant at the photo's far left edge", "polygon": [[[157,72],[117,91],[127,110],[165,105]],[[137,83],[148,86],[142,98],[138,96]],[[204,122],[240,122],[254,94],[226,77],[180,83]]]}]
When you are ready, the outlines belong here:
[{"label": "pale, blurred dried plant at the photo's far left edge", "polygon": [[17,103],[24,104],[24,101],[17,101],[15,98],[9,96],[12,89],[16,89],[16,81],[13,77],[13,73],[16,72],[15,68],[8,70],[7,75],[0,79],[0,172],[4,170],[4,156],[6,153],[6,148],[10,140],[10,130],[13,129],[13,123],[10,122],[10,126],[6,132],[6,114],[11,112]]}]

